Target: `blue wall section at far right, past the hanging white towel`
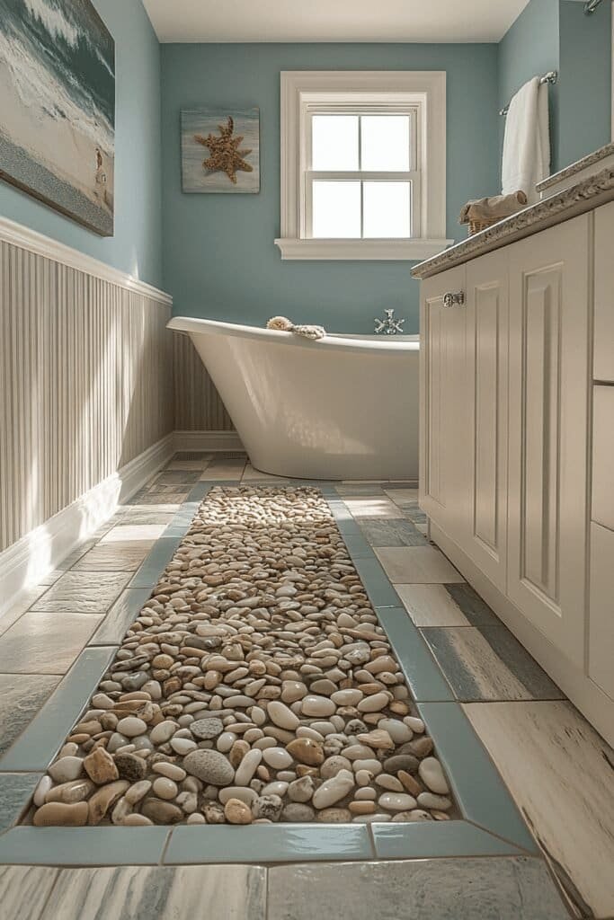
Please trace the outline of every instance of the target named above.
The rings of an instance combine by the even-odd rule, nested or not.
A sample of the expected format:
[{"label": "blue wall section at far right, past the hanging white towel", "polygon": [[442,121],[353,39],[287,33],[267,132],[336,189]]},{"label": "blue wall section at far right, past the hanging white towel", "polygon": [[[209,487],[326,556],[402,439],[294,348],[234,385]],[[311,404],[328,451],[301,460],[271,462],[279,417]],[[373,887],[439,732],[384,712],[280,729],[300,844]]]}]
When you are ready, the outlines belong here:
[{"label": "blue wall section at far right, past the hanging white towel", "polygon": [[568,166],[611,138],[612,6],[592,16],[584,4],[561,0],[558,156]]}]

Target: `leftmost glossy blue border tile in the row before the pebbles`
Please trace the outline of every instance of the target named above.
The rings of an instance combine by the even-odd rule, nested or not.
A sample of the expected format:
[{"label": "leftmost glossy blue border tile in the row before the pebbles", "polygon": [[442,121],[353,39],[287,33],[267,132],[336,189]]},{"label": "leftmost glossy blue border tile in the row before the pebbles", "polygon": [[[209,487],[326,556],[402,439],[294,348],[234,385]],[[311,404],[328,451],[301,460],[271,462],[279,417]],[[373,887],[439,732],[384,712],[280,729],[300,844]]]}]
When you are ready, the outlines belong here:
[{"label": "leftmost glossy blue border tile in the row before the pebbles", "polygon": [[157,866],[168,827],[32,827],[0,836],[0,864],[16,866]]}]

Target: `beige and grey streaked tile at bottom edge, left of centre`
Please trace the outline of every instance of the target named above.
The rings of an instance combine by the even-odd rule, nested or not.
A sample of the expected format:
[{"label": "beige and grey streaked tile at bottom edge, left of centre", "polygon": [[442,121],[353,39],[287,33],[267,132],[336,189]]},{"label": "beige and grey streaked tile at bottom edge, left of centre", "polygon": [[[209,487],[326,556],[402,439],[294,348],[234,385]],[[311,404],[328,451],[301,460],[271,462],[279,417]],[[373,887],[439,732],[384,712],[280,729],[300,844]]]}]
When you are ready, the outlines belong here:
[{"label": "beige and grey streaked tile at bottom edge, left of centre", "polygon": [[264,920],[258,866],[63,869],[42,920]]}]

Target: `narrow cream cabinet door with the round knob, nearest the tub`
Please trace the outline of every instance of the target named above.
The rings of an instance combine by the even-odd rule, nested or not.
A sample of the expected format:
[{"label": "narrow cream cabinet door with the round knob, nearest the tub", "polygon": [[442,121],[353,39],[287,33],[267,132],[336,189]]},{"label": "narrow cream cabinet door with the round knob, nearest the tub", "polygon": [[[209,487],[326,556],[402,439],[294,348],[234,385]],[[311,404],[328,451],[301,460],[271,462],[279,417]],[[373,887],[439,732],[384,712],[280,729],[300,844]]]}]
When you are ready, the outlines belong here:
[{"label": "narrow cream cabinet door with the round knob, nearest the tub", "polygon": [[447,292],[465,292],[465,269],[423,282],[421,306],[420,502],[446,533],[461,526],[465,490],[459,456],[465,433],[465,307],[446,306]]}]

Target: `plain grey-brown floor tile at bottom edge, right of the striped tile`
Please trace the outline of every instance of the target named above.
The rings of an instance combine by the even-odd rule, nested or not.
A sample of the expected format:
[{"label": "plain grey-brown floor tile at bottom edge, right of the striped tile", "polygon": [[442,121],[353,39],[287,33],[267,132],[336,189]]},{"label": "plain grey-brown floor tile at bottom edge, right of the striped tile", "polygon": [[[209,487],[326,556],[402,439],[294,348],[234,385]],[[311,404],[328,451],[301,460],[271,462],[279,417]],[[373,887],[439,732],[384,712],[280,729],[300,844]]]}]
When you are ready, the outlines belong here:
[{"label": "plain grey-brown floor tile at bottom edge, right of the striped tile", "polygon": [[416,859],[269,869],[268,920],[568,920],[540,859]]}]

